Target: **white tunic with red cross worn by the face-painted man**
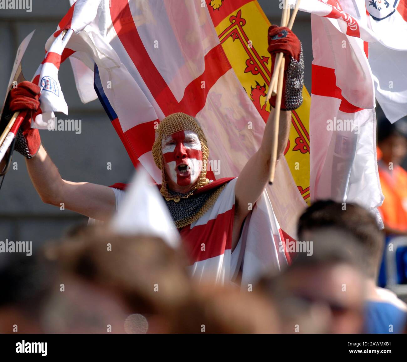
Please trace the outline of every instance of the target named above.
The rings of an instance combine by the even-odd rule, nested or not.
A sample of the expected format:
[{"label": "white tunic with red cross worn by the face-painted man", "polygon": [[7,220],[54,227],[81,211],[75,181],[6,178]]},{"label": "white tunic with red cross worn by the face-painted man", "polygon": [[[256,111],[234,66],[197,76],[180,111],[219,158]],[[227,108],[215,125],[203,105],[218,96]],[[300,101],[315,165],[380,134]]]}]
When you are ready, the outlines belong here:
[{"label": "white tunic with red cross worn by the face-painted man", "polygon": [[[280,228],[266,192],[247,216],[236,248],[232,248],[235,185],[237,178],[213,181],[195,191],[207,192],[226,183],[212,207],[197,221],[179,229],[190,258],[191,274],[199,280],[218,284],[232,282],[242,271],[242,287],[254,284],[264,272],[277,272],[287,265],[287,258],[279,248],[283,241]],[[125,185],[112,186],[116,208],[125,196]]]}]

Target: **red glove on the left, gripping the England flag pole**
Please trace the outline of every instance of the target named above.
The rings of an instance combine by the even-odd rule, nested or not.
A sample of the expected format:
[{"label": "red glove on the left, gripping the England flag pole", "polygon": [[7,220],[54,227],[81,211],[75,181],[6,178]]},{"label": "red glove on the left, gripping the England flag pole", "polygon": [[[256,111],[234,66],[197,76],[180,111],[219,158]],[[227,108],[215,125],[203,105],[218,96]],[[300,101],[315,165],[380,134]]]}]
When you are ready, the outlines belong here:
[{"label": "red glove on the left, gripping the England flag pole", "polygon": [[41,145],[38,129],[31,128],[31,115],[39,108],[39,86],[31,82],[21,82],[10,91],[8,108],[11,112],[27,111],[20,126],[15,143],[15,151],[27,158],[34,157]]}]

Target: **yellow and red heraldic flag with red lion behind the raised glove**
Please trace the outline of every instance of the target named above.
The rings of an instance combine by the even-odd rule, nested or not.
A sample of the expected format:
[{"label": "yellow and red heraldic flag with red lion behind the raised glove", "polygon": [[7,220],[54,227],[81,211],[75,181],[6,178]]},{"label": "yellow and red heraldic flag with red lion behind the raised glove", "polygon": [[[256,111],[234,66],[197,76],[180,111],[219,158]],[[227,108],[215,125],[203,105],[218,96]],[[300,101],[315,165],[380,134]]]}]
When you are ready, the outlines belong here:
[{"label": "yellow and red heraldic flag with red lion behind the raised glove", "polygon": [[[271,25],[256,0],[212,0],[208,9],[226,56],[254,106],[267,121],[266,102],[271,58],[266,35]],[[305,86],[303,103],[291,112],[292,127],[284,151],[291,174],[304,200],[309,203],[309,108]]]}]

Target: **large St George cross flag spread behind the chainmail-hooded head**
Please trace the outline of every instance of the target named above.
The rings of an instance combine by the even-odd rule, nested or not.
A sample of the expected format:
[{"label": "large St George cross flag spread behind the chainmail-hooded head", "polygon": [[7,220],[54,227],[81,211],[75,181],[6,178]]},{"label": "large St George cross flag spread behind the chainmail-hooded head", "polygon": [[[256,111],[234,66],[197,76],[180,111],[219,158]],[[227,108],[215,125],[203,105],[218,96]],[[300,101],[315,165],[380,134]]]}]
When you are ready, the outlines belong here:
[{"label": "large St George cross flag spread behind the chainmail-hooded head", "polygon": [[[93,21],[88,14],[95,11],[83,13],[85,3],[96,9]],[[94,98],[93,73],[92,86],[135,166],[161,183],[151,153],[155,128],[168,114],[185,112],[205,131],[210,178],[239,175],[260,147],[265,122],[225,56],[206,2],[77,0],[46,47],[78,23],[82,30],[75,29],[64,53],[75,58],[79,94],[82,101]],[[305,203],[285,159],[268,194],[274,238],[295,235]]]}]

